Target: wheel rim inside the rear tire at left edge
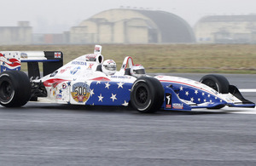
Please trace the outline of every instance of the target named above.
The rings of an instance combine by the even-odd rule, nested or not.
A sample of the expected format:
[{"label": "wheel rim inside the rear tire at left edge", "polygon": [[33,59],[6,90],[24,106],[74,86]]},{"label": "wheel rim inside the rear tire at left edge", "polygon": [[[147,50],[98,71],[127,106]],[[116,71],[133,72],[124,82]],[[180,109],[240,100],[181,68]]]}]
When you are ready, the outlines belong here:
[{"label": "wheel rim inside the rear tire at left edge", "polygon": [[0,97],[3,102],[11,100],[14,96],[12,84],[8,81],[3,81],[0,85]]}]

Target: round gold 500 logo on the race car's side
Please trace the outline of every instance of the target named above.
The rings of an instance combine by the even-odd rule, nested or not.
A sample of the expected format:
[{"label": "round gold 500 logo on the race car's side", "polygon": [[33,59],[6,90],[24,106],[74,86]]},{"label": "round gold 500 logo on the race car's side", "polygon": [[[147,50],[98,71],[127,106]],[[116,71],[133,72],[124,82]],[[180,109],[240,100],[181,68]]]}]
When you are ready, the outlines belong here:
[{"label": "round gold 500 logo on the race car's side", "polygon": [[71,95],[73,100],[83,103],[90,97],[90,88],[87,83],[74,83]]}]

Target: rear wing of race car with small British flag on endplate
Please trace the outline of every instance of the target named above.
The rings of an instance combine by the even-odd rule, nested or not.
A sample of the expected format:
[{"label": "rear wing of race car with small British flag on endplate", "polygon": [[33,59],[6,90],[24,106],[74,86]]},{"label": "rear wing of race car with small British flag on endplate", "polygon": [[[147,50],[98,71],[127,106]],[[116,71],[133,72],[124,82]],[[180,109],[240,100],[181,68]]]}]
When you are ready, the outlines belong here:
[{"label": "rear wing of race car with small British flag on endplate", "polygon": [[43,63],[43,76],[63,66],[61,51],[2,51],[0,52],[0,72],[20,71],[20,63],[27,63],[28,77],[40,77],[38,62]]}]

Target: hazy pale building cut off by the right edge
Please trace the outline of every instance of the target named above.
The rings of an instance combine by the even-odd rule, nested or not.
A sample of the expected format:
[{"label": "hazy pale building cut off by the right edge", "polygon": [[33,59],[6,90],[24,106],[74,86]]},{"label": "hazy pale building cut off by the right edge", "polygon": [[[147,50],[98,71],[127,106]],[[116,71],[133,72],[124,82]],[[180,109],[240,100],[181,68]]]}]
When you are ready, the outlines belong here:
[{"label": "hazy pale building cut off by the right edge", "polygon": [[212,15],[195,25],[197,43],[256,43],[256,15]]}]

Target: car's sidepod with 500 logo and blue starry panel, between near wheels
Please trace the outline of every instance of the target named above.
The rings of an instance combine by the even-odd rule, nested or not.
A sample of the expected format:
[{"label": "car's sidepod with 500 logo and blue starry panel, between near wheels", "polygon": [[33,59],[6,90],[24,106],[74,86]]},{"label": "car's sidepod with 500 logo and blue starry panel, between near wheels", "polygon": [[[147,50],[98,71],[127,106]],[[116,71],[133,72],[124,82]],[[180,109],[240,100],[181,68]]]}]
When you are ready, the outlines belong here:
[{"label": "car's sidepod with 500 logo and blue starry panel, between near wheels", "polygon": [[[57,84],[52,84],[57,83]],[[90,106],[128,106],[132,83],[55,80],[45,83],[58,103]]]}]

